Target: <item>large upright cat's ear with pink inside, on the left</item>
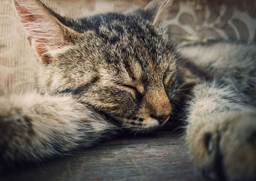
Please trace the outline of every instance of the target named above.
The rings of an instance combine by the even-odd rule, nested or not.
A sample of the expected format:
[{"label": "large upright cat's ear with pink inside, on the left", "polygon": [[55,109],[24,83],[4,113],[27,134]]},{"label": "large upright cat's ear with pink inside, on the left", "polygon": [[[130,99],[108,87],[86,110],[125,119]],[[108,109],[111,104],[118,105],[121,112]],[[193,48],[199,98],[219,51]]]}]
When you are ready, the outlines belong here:
[{"label": "large upright cat's ear with pink inside, on the left", "polygon": [[[71,47],[79,33],[63,25],[56,13],[38,0],[14,0],[28,40],[44,64]],[[60,16],[60,15],[58,15]]]}]

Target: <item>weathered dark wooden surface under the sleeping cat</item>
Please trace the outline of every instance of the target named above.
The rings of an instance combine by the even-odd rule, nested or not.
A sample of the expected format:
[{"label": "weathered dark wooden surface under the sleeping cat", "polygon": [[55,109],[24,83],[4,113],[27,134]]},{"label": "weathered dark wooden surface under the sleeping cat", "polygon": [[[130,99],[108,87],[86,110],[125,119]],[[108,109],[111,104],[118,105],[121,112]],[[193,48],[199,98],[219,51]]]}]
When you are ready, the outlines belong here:
[{"label": "weathered dark wooden surface under the sleeping cat", "polygon": [[102,143],[72,157],[1,173],[0,180],[204,180],[179,133],[166,131]]}]

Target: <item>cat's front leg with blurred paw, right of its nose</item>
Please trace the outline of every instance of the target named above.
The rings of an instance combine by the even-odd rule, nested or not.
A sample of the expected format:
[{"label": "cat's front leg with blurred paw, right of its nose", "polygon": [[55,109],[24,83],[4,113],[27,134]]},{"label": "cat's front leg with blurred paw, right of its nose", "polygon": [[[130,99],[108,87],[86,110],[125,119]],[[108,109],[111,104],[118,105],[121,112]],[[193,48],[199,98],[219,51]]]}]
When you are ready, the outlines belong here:
[{"label": "cat's front leg with blurred paw, right of its nose", "polygon": [[255,109],[228,85],[202,83],[193,92],[186,142],[196,166],[214,180],[255,180]]}]

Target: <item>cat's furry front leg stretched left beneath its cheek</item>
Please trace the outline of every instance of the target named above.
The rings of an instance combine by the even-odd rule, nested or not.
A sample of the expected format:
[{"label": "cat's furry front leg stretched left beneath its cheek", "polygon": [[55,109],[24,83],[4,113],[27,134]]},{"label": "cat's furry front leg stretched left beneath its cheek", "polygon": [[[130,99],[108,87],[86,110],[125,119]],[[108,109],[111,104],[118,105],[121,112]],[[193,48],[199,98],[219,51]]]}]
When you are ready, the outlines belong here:
[{"label": "cat's furry front leg stretched left beneath its cheek", "polygon": [[70,154],[116,134],[115,125],[70,96],[0,97],[0,167]]}]

